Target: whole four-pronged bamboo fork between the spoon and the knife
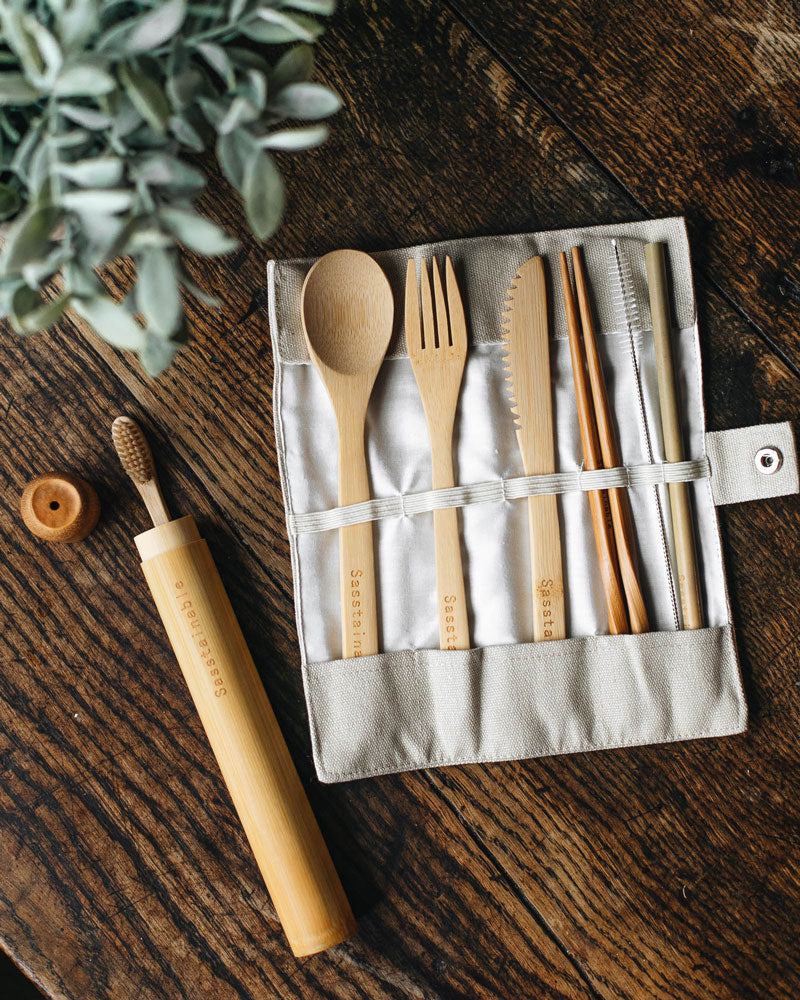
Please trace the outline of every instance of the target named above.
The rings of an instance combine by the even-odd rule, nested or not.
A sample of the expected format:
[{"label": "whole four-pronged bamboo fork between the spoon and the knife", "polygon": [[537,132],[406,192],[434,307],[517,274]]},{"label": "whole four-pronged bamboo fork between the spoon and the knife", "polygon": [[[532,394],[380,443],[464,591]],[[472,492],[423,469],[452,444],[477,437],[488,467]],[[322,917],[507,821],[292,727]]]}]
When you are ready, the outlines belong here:
[{"label": "whole four-pronged bamboo fork between the spoon and the knife", "polygon": [[[425,418],[428,421],[433,488],[443,490],[455,485],[453,424],[467,357],[467,324],[450,258],[445,257],[446,296],[435,257],[431,262],[431,270],[436,300],[436,320],[434,322],[428,269],[425,261],[422,261],[420,273],[422,324],[420,325],[417,268],[413,260],[408,262],[406,346],[419,394],[422,397]],[[457,508],[435,510],[433,530],[436,544],[439,644],[442,649],[469,649],[469,623]]]}]

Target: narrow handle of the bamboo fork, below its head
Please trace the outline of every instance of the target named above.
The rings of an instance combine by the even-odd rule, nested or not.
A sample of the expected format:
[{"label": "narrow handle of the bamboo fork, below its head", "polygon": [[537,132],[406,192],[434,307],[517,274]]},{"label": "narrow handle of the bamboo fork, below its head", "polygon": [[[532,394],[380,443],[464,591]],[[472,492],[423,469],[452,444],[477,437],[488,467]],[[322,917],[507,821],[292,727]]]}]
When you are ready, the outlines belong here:
[{"label": "narrow handle of the bamboo fork, below its head", "polygon": [[[452,440],[435,446],[432,457],[433,488],[446,490],[455,486]],[[433,512],[433,534],[436,545],[439,646],[442,649],[469,649],[469,621],[457,507],[446,507]]]}]

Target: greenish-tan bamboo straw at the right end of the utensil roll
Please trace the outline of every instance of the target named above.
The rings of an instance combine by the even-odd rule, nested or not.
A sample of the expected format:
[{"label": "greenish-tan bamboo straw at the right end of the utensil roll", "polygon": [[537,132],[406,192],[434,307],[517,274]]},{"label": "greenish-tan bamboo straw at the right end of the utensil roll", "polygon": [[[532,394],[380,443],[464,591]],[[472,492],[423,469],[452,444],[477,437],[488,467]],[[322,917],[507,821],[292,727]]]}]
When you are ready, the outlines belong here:
[{"label": "greenish-tan bamboo straw at the right end of the utensil roll", "polygon": [[[653,339],[658,368],[658,398],[661,404],[661,427],[664,452],[668,462],[682,462],[683,437],[678,416],[678,392],[675,386],[675,366],[670,344],[669,299],[667,296],[667,264],[663,243],[648,243],[645,248],[647,284],[650,289],[650,313],[653,318]],[[688,483],[669,484],[672,510],[672,530],[675,534],[675,558],[678,564],[678,588],[681,595],[683,627],[703,627],[700,606],[700,583],[694,551],[692,510]]]}]

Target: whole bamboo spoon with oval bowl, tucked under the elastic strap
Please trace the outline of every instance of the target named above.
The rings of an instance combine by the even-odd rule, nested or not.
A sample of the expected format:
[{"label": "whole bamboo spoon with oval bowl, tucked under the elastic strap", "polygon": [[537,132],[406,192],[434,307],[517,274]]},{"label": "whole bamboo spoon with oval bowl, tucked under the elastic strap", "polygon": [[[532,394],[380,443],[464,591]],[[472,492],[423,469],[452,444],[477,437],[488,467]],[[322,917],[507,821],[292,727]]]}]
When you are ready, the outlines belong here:
[{"label": "whole bamboo spoon with oval bowl, tucked under the elastic strap", "polygon": [[[339,504],[370,499],[364,452],[367,404],[392,335],[394,303],[369,254],[334,250],[306,275],[303,331],[339,430]],[[339,529],[342,655],[378,652],[375,557],[369,521]]]}]

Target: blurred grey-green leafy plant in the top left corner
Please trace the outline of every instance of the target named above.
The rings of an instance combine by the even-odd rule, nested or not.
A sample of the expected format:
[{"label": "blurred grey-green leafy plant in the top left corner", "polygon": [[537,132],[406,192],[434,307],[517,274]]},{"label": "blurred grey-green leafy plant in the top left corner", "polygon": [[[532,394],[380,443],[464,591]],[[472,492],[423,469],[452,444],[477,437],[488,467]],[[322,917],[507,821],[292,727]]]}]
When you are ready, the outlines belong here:
[{"label": "blurred grey-green leafy plant in the top left corner", "polygon": [[[271,154],[324,142],[319,119],[340,107],[309,82],[311,15],[334,2],[0,0],[0,315],[27,334],[74,309],[163,371],[188,337],[183,294],[215,304],[179,245],[236,246],[195,210],[205,178],[181,154],[214,147],[250,229],[272,235],[284,187]],[[136,281],[116,302],[95,269],[124,255]]]}]

